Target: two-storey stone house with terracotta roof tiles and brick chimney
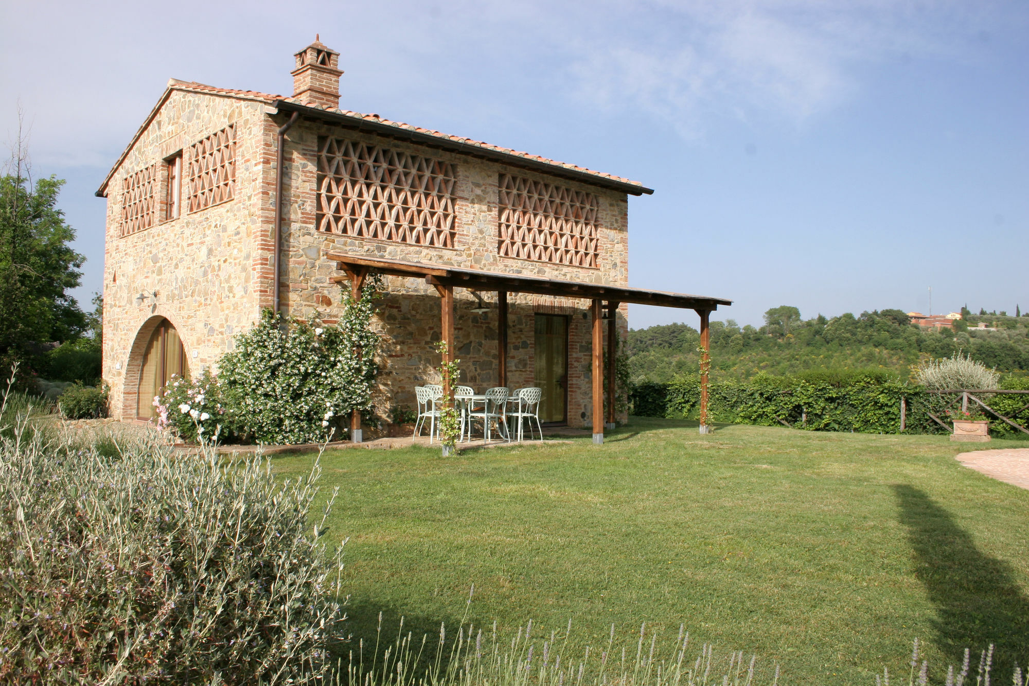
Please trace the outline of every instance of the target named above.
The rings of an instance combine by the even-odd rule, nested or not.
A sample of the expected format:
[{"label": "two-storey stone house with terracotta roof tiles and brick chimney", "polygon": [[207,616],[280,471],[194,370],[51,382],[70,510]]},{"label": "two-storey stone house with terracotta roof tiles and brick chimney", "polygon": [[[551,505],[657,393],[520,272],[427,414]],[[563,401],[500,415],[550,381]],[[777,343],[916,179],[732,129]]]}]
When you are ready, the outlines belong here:
[{"label": "two-storey stone house with terracotta roof tiles and brick chimney", "polygon": [[172,375],[216,366],[262,308],[331,323],[369,270],[388,274],[384,420],[437,380],[431,343],[449,325],[461,383],[538,385],[544,421],[588,425],[605,288],[620,288],[605,296],[608,345],[628,331],[628,302],[704,321],[729,304],[628,288],[627,199],[650,190],[341,109],[338,60],[317,39],[296,53],[291,97],[171,79],[104,179],[112,416],[152,416]]}]

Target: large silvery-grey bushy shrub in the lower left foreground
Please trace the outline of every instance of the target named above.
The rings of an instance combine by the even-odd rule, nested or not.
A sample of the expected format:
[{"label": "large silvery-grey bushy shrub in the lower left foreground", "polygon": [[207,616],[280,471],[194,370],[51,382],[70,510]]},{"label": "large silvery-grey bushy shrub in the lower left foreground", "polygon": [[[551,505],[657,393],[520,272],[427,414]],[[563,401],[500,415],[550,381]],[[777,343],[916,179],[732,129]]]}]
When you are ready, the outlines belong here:
[{"label": "large silvery-grey bushy shrub in the lower left foreground", "polygon": [[[318,464],[175,456],[156,442],[0,437],[0,682],[321,683],[342,546]],[[311,519],[318,520],[314,528]]]}]

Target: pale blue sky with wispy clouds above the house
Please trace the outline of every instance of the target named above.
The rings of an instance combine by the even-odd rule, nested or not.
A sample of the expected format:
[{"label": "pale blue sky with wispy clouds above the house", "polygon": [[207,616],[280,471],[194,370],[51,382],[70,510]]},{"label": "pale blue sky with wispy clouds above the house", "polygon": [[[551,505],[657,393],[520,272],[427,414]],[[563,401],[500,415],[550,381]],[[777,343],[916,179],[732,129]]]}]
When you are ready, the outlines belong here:
[{"label": "pale blue sky with wispy clouds above the house", "polygon": [[[3,3],[0,135],[102,287],[93,196],[169,77],[289,95],[316,32],[341,105],[638,179],[630,283],[758,324],[1029,309],[1029,3]],[[317,9],[315,9],[317,7]],[[634,307],[631,325],[696,325]]]}]

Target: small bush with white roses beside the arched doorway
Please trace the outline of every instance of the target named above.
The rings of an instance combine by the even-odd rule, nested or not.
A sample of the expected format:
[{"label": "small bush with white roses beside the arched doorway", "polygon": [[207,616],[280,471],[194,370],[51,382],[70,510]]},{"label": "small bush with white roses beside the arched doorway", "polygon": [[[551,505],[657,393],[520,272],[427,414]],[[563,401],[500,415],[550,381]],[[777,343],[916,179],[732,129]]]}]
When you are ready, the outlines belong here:
[{"label": "small bush with white roses beside the arched doorway", "polygon": [[155,396],[157,426],[170,428],[187,441],[212,442],[233,433],[234,416],[221,402],[218,379],[204,370],[198,379],[172,377],[165,392]]}]

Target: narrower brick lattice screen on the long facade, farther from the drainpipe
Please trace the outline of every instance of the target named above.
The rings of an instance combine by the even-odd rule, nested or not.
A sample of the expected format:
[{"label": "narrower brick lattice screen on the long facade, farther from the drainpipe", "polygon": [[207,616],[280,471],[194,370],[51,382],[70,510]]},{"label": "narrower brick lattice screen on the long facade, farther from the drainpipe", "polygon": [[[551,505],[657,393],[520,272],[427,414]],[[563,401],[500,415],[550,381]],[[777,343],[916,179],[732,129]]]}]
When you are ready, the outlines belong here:
[{"label": "narrower brick lattice screen on the long facade, farther from the drainpipe", "polygon": [[597,266],[597,196],[510,174],[498,185],[500,256]]}]

